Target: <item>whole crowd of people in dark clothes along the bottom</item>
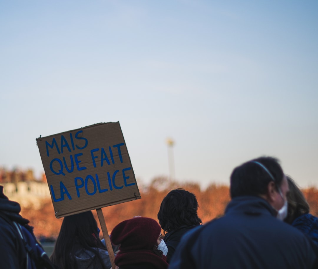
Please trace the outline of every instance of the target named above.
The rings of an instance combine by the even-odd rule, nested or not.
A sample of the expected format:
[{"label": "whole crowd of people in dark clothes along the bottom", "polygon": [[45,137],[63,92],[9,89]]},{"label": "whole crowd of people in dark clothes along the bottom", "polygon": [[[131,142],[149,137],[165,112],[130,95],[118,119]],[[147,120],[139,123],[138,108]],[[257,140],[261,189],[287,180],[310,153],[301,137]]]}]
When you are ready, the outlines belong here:
[{"label": "whole crowd of people in dark clothes along the bottom", "polygon": [[[32,229],[19,215],[19,204],[2,190],[4,269],[318,268],[318,218],[309,213],[301,189],[273,157],[252,159],[234,168],[231,201],[223,216],[208,223],[202,224],[197,215],[196,196],[175,189],[161,202],[159,223],[135,216],[116,225],[110,234],[111,250],[100,240],[91,211],[64,217],[50,258],[34,236],[38,249],[33,252],[39,254],[27,250],[19,233],[32,235]],[[114,253],[113,262],[110,253]],[[30,260],[34,265],[29,265]]]}]

